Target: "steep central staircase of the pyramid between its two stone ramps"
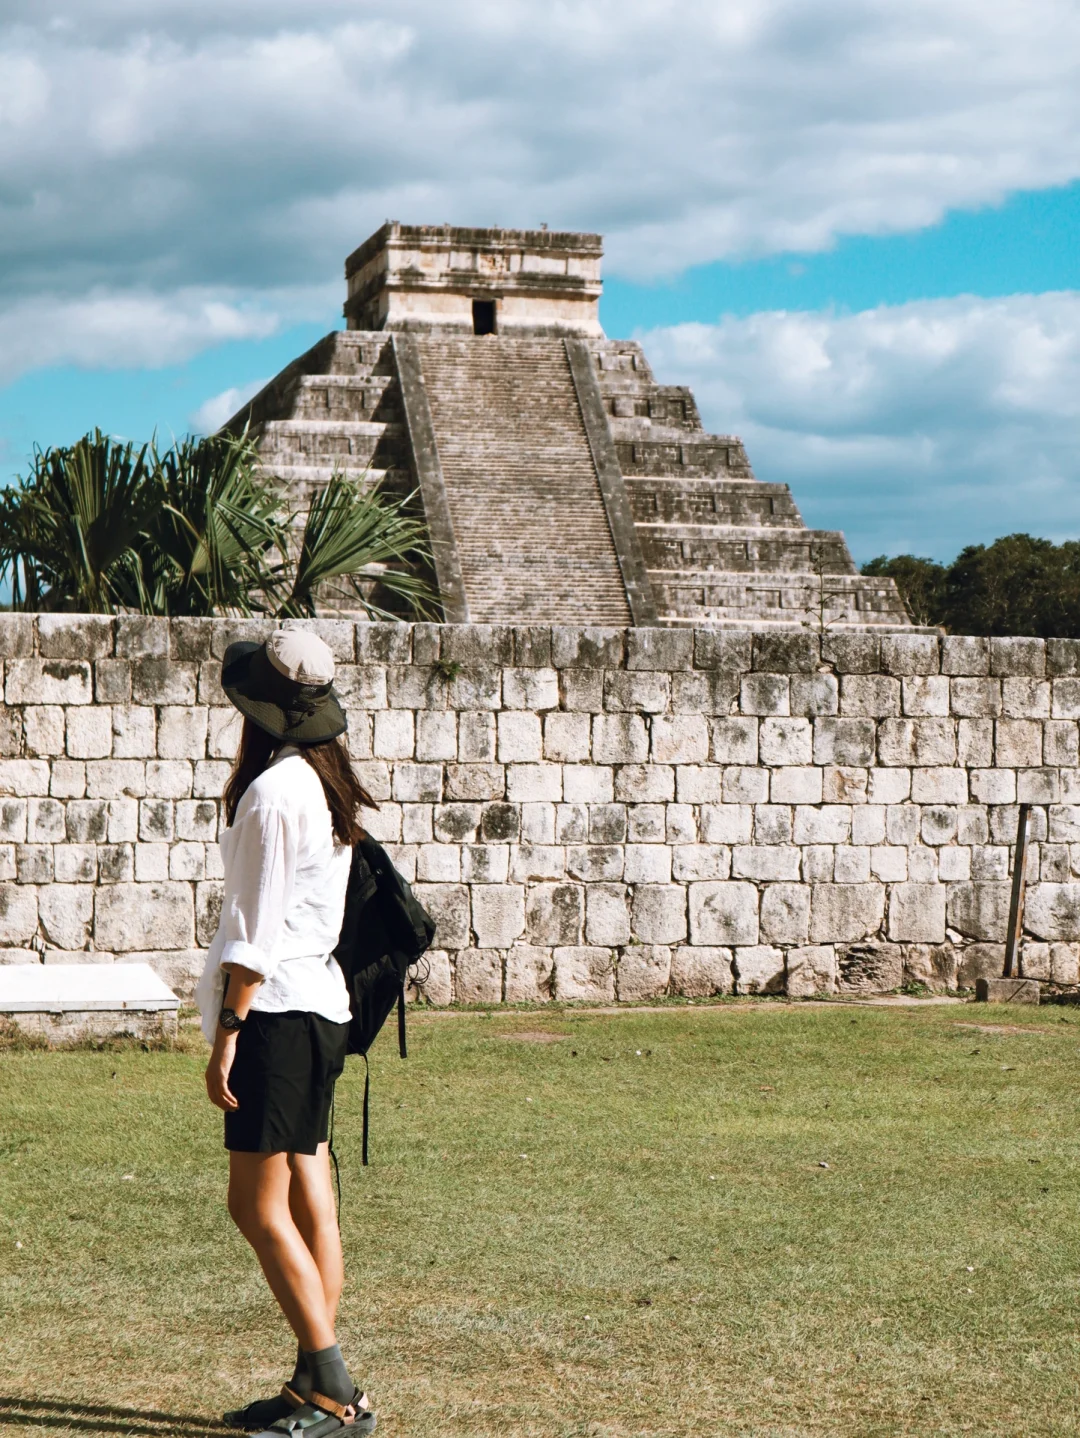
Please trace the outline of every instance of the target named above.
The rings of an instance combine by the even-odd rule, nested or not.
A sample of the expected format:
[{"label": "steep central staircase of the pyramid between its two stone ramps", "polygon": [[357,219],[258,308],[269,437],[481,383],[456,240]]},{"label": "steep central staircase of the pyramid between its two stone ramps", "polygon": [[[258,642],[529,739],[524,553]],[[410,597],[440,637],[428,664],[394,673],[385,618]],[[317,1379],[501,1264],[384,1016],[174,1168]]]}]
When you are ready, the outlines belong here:
[{"label": "steep central staircase of the pyramid between its two stone ramps", "polygon": [[470,617],[628,623],[562,341],[417,347]]}]

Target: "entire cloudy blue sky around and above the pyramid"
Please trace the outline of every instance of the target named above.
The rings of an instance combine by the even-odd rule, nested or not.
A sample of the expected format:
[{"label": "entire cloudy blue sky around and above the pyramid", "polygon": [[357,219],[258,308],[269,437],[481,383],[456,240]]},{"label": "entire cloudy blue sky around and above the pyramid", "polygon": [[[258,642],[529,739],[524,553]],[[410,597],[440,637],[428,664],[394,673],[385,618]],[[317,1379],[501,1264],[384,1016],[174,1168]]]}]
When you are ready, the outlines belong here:
[{"label": "entire cloudy blue sky around and above the pyramid", "polygon": [[387,217],[601,230],[860,561],[1080,533],[1076,0],[3,0],[0,477],[213,427]]}]

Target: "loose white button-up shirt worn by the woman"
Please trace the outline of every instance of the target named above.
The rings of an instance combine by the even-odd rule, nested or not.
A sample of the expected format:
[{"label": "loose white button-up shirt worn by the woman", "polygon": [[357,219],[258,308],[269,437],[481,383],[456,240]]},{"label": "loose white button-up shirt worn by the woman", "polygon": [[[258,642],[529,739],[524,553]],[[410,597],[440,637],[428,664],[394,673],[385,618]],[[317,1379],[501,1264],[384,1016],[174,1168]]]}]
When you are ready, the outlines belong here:
[{"label": "loose white button-up shirt worn by the woman", "polygon": [[206,1037],[213,1043],[224,963],[262,975],[253,1009],[302,1009],[348,1022],[334,949],[352,850],[335,844],[322,784],[299,749],[282,749],[247,787],[220,846],[221,920],[196,988]]}]

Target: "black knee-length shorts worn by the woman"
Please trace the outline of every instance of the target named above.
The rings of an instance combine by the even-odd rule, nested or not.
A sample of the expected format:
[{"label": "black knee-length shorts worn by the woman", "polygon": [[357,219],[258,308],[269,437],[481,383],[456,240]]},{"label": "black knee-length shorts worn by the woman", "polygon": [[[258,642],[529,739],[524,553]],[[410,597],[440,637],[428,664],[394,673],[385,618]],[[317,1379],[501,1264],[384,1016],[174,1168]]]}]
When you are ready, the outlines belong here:
[{"label": "black knee-length shorts worn by the woman", "polygon": [[319,1014],[252,1009],[236,1038],[229,1087],[240,1107],[224,1116],[224,1146],[236,1153],[315,1153],[328,1137],[348,1031],[348,1024]]}]

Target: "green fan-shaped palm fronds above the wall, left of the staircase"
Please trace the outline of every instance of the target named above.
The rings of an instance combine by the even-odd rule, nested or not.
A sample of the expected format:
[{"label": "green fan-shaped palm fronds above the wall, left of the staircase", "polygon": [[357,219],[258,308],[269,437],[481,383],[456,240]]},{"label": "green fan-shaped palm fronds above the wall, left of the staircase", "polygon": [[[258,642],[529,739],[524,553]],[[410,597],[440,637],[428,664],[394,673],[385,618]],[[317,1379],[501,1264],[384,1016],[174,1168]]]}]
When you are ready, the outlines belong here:
[{"label": "green fan-shaped palm fronds above the wall, left of the staircase", "polygon": [[318,595],[414,618],[437,608],[427,562],[408,498],[335,473],[301,508],[246,436],[160,453],[95,430],[36,452],[0,492],[0,584],[17,610],[285,618]]}]

